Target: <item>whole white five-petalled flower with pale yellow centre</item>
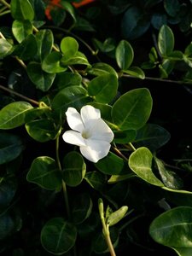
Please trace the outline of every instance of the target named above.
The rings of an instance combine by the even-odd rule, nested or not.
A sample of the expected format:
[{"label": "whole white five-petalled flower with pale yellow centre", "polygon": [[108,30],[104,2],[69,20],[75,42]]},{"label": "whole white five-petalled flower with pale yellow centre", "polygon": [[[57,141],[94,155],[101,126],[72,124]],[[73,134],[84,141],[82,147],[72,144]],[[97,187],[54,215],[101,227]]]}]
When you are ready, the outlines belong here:
[{"label": "whole white five-petalled flower with pale yellow centre", "polygon": [[81,154],[94,163],[108,154],[113,141],[113,131],[102,120],[100,110],[90,105],[68,108],[67,123],[73,130],[65,131],[62,138],[66,143],[80,147]]}]

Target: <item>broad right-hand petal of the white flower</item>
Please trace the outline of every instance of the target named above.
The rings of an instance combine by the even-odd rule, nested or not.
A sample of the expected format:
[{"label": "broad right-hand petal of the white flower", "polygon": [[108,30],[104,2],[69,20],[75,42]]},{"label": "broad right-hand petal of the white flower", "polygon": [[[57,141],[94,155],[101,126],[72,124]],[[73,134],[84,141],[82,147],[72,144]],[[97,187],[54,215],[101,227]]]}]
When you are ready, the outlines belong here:
[{"label": "broad right-hand petal of the white flower", "polygon": [[91,134],[91,140],[104,141],[108,143],[113,141],[113,131],[102,119],[91,120],[89,126],[89,128],[86,128]]}]

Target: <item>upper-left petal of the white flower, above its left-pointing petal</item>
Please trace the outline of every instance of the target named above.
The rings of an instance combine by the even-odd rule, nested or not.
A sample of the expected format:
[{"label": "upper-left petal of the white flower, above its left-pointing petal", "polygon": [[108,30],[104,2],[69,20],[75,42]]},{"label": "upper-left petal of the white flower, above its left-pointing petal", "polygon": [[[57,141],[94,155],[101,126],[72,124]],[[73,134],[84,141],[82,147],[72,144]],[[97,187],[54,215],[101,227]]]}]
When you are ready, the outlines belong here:
[{"label": "upper-left petal of the white flower, above its left-pointing petal", "polygon": [[75,131],[84,131],[83,120],[81,119],[80,113],[75,108],[67,108],[67,123],[69,127]]}]

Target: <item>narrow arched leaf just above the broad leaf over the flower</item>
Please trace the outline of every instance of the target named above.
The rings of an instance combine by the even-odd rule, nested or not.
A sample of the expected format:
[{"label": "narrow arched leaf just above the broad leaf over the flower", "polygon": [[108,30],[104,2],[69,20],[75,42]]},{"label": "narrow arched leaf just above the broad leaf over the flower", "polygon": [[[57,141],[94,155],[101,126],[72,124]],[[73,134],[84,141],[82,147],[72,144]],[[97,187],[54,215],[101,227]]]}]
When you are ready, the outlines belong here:
[{"label": "narrow arched leaf just above the broad leaf over the flower", "polygon": [[115,75],[118,79],[118,74],[113,69],[113,67],[111,67],[107,63],[103,63],[103,62],[98,62],[98,63],[93,64],[92,67],[87,70],[87,72],[92,75],[95,75],[95,76],[112,74],[112,75]]}]

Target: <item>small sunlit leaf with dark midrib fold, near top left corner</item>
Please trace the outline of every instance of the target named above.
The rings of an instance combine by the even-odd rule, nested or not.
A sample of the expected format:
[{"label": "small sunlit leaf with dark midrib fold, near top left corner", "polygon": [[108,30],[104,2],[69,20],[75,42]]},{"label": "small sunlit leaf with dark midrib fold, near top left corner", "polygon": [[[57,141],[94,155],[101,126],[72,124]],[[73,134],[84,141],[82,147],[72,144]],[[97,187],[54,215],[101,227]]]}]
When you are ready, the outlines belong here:
[{"label": "small sunlit leaf with dark midrib fold, near top left corner", "polygon": [[16,40],[21,43],[28,35],[32,34],[32,22],[29,20],[14,20],[12,32]]}]

